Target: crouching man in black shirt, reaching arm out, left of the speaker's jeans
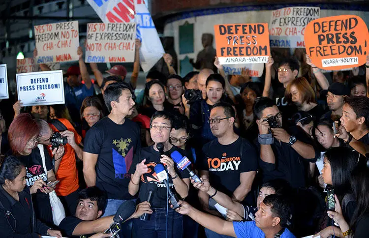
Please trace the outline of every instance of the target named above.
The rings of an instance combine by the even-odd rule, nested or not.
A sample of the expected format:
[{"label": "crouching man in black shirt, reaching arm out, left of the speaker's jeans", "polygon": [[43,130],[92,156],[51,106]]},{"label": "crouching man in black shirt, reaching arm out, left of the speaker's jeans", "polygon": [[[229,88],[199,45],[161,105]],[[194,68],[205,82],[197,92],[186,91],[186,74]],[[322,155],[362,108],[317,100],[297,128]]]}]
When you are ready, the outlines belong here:
[{"label": "crouching man in black shirt, reaching arm out, left of the speaker's jeans", "polygon": [[[59,224],[63,235],[71,238],[110,237],[111,235],[104,236],[101,234],[101,232],[109,229],[114,222],[114,216],[101,218],[106,205],[104,192],[96,186],[92,186],[82,189],[78,196],[79,200],[75,216],[67,216]],[[140,217],[148,208],[147,202],[139,204],[136,211],[127,220]],[[98,234],[92,235],[94,233]]]}]

